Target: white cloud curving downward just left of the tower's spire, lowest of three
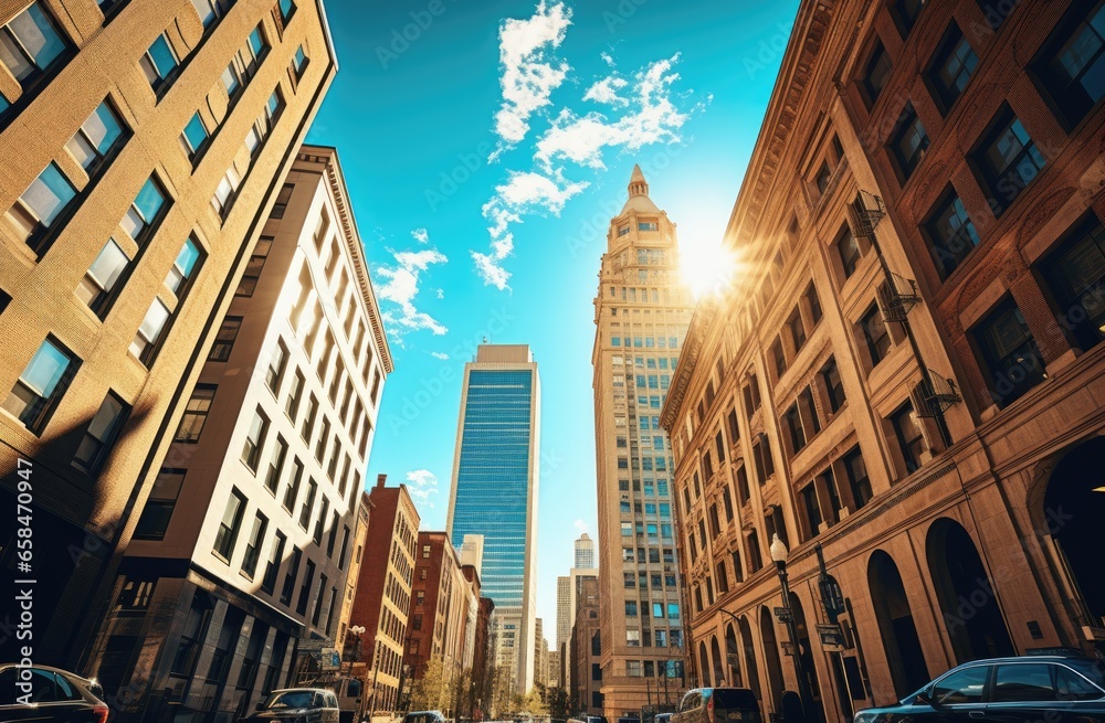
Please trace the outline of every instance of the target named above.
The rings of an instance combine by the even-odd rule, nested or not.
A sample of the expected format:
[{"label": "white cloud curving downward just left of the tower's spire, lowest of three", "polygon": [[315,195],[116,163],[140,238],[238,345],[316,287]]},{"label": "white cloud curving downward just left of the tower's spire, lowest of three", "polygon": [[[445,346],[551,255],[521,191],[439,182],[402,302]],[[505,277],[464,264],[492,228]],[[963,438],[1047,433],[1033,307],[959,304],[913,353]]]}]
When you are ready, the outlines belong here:
[{"label": "white cloud curving downward just left of the tower's spire, lowest of three", "polygon": [[491,222],[491,253],[472,252],[476,273],[483,283],[501,291],[509,288],[511,273],[499,263],[514,253],[512,223],[522,223],[522,216],[532,213],[559,215],[565,203],[588,187],[564,178],[561,169],[548,174],[533,171],[511,171],[506,183],[495,187],[495,195],[484,204],[483,215]]}]

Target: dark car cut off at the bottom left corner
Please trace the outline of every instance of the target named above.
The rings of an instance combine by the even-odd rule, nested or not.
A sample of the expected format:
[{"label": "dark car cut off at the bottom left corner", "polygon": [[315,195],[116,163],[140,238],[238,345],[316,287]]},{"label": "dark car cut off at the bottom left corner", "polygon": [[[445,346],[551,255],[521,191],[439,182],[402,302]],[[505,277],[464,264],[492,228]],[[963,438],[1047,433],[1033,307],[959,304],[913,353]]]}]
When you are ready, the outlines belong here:
[{"label": "dark car cut off at the bottom left corner", "polygon": [[104,689],[94,678],[50,666],[0,664],[0,720],[106,723]]}]

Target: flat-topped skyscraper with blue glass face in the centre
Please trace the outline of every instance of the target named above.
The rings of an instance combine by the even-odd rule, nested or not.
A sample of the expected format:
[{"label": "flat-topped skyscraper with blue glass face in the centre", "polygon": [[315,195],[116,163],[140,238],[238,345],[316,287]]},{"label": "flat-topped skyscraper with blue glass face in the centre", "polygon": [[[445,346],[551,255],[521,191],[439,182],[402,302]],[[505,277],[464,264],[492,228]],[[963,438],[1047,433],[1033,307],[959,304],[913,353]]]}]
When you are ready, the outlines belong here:
[{"label": "flat-topped skyscraper with blue glass face in the centre", "polygon": [[483,594],[495,602],[495,664],[534,681],[540,381],[525,344],[482,344],[464,365],[448,533],[484,535]]}]

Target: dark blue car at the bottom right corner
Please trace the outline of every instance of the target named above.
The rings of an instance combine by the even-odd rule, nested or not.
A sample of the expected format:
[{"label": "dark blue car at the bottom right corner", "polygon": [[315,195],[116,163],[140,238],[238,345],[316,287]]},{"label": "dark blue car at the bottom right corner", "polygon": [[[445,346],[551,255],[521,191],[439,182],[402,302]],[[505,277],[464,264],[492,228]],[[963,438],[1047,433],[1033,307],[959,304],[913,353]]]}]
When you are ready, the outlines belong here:
[{"label": "dark blue car at the bottom right corner", "polygon": [[854,723],[1105,721],[1105,666],[1081,655],[1027,655],[953,668],[894,705]]}]

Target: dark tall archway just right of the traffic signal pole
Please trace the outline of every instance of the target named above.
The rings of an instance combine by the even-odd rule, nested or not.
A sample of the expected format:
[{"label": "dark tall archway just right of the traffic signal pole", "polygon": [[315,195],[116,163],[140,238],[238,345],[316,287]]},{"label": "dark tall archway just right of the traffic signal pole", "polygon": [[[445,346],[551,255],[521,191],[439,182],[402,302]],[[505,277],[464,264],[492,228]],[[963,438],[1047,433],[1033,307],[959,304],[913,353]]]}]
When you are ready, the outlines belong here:
[{"label": "dark tall archway just right of the traffic signal pole", "polygon": [[867,588],[894,692],[901,699],[924,685],[930,677],[902,575],[894,559],[882,550],[872,553],[867,561]]}]

